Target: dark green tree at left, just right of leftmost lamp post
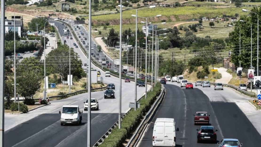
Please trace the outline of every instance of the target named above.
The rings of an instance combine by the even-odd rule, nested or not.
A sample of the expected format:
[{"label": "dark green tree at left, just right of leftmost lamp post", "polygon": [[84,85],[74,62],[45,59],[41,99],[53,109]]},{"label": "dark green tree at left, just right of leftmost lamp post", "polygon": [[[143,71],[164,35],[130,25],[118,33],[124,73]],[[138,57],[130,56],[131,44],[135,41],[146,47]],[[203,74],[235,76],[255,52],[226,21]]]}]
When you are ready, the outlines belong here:
[{"label": "dark green tree at left, just right of leftmost lamp post", "polygon": [[18,63],[16,71],[17,93],[25,98],[25,101],[33,99],[33,95],[40,89],[43,80],[41,64],[34,57],[24,58]]}]

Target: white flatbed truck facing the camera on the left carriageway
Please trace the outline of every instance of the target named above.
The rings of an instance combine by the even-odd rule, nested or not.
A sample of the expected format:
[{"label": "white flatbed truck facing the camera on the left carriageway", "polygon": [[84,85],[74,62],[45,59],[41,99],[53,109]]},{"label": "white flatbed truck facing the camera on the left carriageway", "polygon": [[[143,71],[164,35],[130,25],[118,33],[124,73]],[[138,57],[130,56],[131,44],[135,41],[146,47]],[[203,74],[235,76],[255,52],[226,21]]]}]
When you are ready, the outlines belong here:
[{"label": "white flatbed truck facing the camera on the left carriageway", "polygon": [[78,105],[63,105],[61,114],[61,126],[63,124],[80,125],[82,122],[82,109]]}]

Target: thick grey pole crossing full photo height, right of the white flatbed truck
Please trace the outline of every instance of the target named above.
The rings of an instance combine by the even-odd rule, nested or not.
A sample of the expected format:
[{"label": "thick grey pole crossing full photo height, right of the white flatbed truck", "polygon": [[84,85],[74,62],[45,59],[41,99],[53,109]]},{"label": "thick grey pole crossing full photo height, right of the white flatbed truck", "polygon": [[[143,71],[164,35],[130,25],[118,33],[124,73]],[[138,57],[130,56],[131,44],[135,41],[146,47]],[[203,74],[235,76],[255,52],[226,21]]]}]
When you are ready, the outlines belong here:
[{"label": "thick grey pole crossing full photo height, right of the white flatbed truck", "polygon": [[91,5],[92,0],[89,0],[89,37],[88,37],[88,42],[89,42],[89,50],[88,50],[88,66],[89,66],[89,71],[88,71],[88,118],[87,118],[87,147],[91,147],[91,29],[92,29],[92,5]]}]

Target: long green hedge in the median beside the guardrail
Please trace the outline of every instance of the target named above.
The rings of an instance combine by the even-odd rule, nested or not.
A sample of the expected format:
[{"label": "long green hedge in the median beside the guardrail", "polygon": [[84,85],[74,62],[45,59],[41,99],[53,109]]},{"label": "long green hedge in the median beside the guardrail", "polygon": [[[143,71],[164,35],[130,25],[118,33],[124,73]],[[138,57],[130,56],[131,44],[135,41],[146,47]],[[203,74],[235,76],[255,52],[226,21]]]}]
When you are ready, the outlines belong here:
[{"label": "long green hedge in the median beside the guardrail", "polygon": [[161,93],[161,84],[157,83],[153,87],[153,91],[147,93],[147,98],[145,96],[140,99],[140,108],[136,111],[132,108],[129,110],[128,114],[123,118],[121,123],[121,129],[118,127],[114,128],[107,138],[105,138],[103,144],[99,147],[118,147],[130,137],[135,131],[135,128],[139,125],[141,117],[149,111],[151,105],[156,100],[157,96]]}]

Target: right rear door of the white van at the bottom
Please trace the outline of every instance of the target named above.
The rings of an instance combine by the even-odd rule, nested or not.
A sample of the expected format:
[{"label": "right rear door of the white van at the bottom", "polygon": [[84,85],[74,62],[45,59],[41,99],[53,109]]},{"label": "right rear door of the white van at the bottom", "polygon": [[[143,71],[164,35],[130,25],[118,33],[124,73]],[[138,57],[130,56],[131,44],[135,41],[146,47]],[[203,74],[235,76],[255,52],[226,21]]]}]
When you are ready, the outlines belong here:
[{"label": "right rear door of the white van at the bottom", "polygon": [[174,131],[173,122],[165,122],[164,145],[174,145]]}]

